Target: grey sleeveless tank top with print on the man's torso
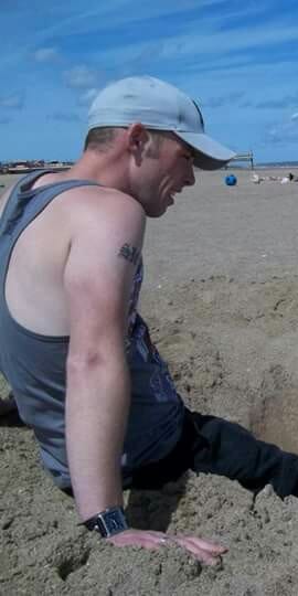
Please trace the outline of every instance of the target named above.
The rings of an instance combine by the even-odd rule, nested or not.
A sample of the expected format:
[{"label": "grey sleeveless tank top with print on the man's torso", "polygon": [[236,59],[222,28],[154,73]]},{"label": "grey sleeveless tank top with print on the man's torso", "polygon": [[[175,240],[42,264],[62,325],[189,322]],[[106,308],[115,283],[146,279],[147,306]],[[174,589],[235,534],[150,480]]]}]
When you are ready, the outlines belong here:
[{"label": "grey sleeveless tank top with print on the man's torso", "polygon": [[[46,205],[66,190],[98,184],[68,180],[32,190],[44,173],[49,171],[31,172],[19,180],[0,220],[0,371],[12,387],[21,418],[33,428],[45,468],[60,488],[67,488],[71,478],[64,402],[68,337],[43,336],[19,324],[6,302],[6,278],[15,242]],[[136,467],[161,459],[172,449],[181,435],[184,415],[168,366],[137,312],[141,280],[140,260],[131,291],[127,338],[132,395],[121,460],[124,485]],[[100,407],[100,400],[98,404]]]}]

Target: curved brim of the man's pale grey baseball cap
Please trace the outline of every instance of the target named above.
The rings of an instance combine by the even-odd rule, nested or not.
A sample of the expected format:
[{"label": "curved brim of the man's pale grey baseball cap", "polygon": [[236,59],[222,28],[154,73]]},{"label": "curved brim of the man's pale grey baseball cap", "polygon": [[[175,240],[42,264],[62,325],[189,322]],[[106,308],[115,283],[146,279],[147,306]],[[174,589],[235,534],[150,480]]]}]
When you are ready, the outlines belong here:
[{"label": "curved brim of the man's pale grey baseball cap", "polygon": [[207,135],[180,130],[175,134],[195,150],[193,164],[201,170],[219,170],[236,156]]}]

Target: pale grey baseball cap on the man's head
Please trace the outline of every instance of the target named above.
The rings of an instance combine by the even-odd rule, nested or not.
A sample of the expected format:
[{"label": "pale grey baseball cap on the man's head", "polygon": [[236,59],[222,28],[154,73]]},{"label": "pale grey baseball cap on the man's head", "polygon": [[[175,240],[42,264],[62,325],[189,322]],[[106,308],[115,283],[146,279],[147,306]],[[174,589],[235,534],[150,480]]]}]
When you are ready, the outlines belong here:
[{"label": "pale grey baseball cap on the man's head", "polygon": [[194,166],[202,170],[217,170],[235,157],[233,151],[205,135],[204,120],[195,102],[159,78],[121,78],[102,89],[91,106],[89,130],[134,123],[174,132],[194,149]]}]

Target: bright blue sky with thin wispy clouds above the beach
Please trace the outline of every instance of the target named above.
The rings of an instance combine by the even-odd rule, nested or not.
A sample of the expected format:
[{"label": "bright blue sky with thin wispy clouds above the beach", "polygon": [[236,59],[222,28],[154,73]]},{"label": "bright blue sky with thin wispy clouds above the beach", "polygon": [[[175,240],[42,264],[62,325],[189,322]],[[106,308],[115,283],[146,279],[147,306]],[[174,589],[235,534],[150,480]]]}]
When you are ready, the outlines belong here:
[{"label": "bright blue sky with thin wispy clouds above the beach", "polygon": [[296,0],[0,0],[0,160],[75,160],[110,81],[149,74],[258,162],[298,160]]}]

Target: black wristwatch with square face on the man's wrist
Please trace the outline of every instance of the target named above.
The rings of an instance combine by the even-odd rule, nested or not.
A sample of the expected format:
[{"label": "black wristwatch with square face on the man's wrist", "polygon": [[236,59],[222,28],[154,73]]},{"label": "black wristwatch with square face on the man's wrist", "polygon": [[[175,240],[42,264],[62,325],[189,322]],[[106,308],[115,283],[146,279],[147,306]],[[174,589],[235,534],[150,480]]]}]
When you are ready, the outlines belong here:
[{"label": "black wristwatch with square face on the man's wrist", "polygon": [[115,534],[128,530],[128,524],[121,507],[105,509],[105,511],[86,520],[84,525],[91,531],[96,530],[103,538],[114,536]]}]

